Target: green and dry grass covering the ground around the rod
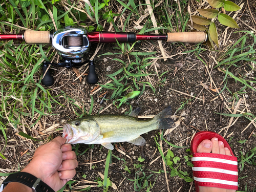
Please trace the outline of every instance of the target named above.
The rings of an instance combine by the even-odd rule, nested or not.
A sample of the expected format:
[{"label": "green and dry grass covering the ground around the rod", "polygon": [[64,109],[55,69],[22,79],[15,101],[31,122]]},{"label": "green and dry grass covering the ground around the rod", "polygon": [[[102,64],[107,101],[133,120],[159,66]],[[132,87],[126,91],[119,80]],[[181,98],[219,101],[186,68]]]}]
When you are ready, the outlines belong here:
[{"label": "green and dry grass covering the ground around the rod", "polygon": [[[153,6],[153,13],[157,20],[159,33],[165,34],[167,32],[189,31],[190,27],[188,26],[188,22],[190,15],[187,12],[188,1],[173,1],[172,5],[169,3],[170,1],[163,1],[158,7]],[[190,1],[190,3],[192,2]],[[193,3],[197,7],[196,2]],[[157,2],[155,4],[157,4]],[[137,1],[118,0],[114,3],[113,1],[107,0],[91,0],[90,4],[84,2],[80,4],[80,2],[68,0],[63,5],[60,1],[56,0],[17,2],[12,0],[0,0],[0,15],[2,16],[0,18],[0,30],[2,33],[19,33],[24,29],[42,31],[56,30],[68,25],[77,24],[86,27],[88,31],[102,30],[103,28],[104,30],[108,30],[111,24],[115,31],[135,31],[138,34],[145,34],[154,33],[156,30],[156,28],[153,27],[150,16],[143,19],[139,27],[133,23],[146,13],[144,12],[146,5],[138,4]],[[190,5],[190,9],[193,9],[193,11],[196,11],[196,7],[194,8]],[[224,94],[228,98],[226,100],[228,106],[230,106],[232,102],[237,103],[245,94],[249,94],[252,97],[255,91],[253,83],[256,81],[255,77],[250,74],[254,72],[256,64],[256,37],[250,31],[241,30],[236,32],[236,34],[239,36],[236,41],[232,44],[228,44],[226,47],[220,46],[220,49],[216,50],[216,52],[212,49],[208,49],[204,45],[164,44],[163,42],[165,51],[168,52],[169,55],[175,55],[177,53],[178,56],[174,58],[178,57],[178,59],[175,60],[175,62],[171,62],[174,58],[168,59],[166,62],[158,59],[158,57],[161,57],[161,54],[157,49],[157,42],[154,41],[136,42],[134,44],[117,43],[113,51],[103,51],[103,54],[98,54],[96,57],[96,59],[111,57],[110,63],[114,63],[115,67],[110,74],[107,74],[103,68],[100,70],[101,75],[106,74],[105,76],[103,75],[106,81],[99,83],[101,88],[99,95],[108,92],[108,97],[105,101],[114,103],[115,105],[116,103],[119,104],[118,100],[127,93],[141,91],[138,100],[140,100],[140,103],[144,106],[151,106],[153,101],[149,101],[149,99],[151,99],[151,97],[158,98],[160,95],[163,95],[168,88],[175,86],[175,83],[178,82],[177,79],[180,81],[176,88],[181,92],[186,92],[187,89],[189,90],[190,85],[182,87],[181,82],[185,83],[186,79],[188,79],[188,82],[193,81],[190,77],[187,77],[186,73],[189,73],[189,70],[198,70],[198,68],[194,67],[190,69],[190,67],[188,67],[184,70],[182,67],[177,67],[178,65],[176,64],[179,60],[186,62],[185,59],[188,57],[196,60],[196,62],[205,69],[209,68],[210,70],[213,65],[212,71],[223,74],[224,78],[221,79],[222,82],[218,84],[218,87],[221,88],[219,93],[212,93],[218,98]],[[55,137],[57,132],[47,133],[47,135],[41,135],[41,133],[53,123],[61,123],[63,119],[69,120],[84,115],[99,114],[101,111],[106,110],[105,107],[99,106],[97,96],[90,96],[90,86],[82,87],[82,83],[73,82],[72,77],[74,73],[72,70],[62,71],[60,68],[54,68],[54,78],[56,79],[54,86],[50,88],[41,86],[41,77],[43,75],[41,73],[41,62],[44,59],[51,61],[58,59],[56,50],[51,46],[26,45],[23,42],[20,43],[17,41],[1,41],[0,46],[2,47],[0,50],[0,135],[1,146],[3,146],[0,150],[0,159],[11,160],[9,155],[5,155],[5,152],[7,151],[6,147],[10,144],[10,140],[14,139],[16,142],[20,142],[17,136],[14,135],[15,133],[20,133],[19,135],[30,138],[29,141],[31,143],[35,142],[32,142],[31,139],[48,141],[50,138]],[[212,55],[214,55],[214,60],[210,57]],[[156,60],[157,62],[155,62]],[[191,60],[189,60],[189,62],[190,61]],[[175,69],[176,67],[177,69]],[[176,72],[178,76],[176,76]],[[179,77],[179,75],[182,75],[182,77]],[[172,78],[175,78],[175,80],[172,80]],[[111,82],[105,84],[105,82],[109,80]],[[214,79],[214,81],[216,81],[216,79]],[[232,89],[232,82],[236,83],[237,90]],[[193,83],[191,84],[191,87],[193,87]],[[197,82],[197,84],[200,84],[200,82]],[[134,99],[132,102],[136,100],[137,99]],[[196,99],[191,100],[185,98],[185,96],[173,94],[173,98],[162,99],[153,107],[162,109],[164,108],[163,103],[168,100],[174,102],[172,105],[175,106],[177,113],[178,111],[189,111],[190,108],[194,106],[191,105],[191,102],[194,102]],[[124,111],[126,110],[125,113],[131,112],[134,108],[135,103],[132,102],[128,101],[122,103],[121,108],[123,108]],[[214,109],[215,108],[212,108],[212,110]],[[115,113],[118,109],[114,107],[108,110],[108,113]],[[118,112],[121,112],[121,110]],[[227,113],[228,112],[218,114],[226,115],[226,117],[245,117],[244,120],[247,119],[249,121],[255,119],[253,112],[247,111],[244,114],[236,115],[227,115]],[[157,112],[154,111],[154,114],[157,114]],[[193,120],[189,119],[189,121],[192,123]],[[186,127],[189,127],[190,123],[186,124]],[[202,124],[200,126],[202,126]],[[212,125],[211,128],[212,127],[215,126]],[[187,132],[189,132],[189,130]],[[252,138],[254,139],[253,136]],[[160,145],[160,140],[163,143],[162,146]],[[242,138],[242,136],[239,136],[238,140],[241,142],[244,140],[250,141],[250,139]],[[232,142],[234,141],[232,140],[231,143]],[[241,142],[241,145],[244,144]],[[151,145],[152,143],[154,142],[151,142]],[[188,143],[185,145],[188,145]],[[172,180],[174,183],[175,179],[184,180],[185,182],[192,181],[190,170],[190,166],[192,165],[189,161],[190,154],[188,151],[172,144],[172,142],[163,138],[161,134],[156,135],[155,143],[152,146],[157,149],[156,153],[165,162],[168,179],[174,179]],[[89,157],[91,150],[93,150],[93,153],[96,151],[94,145],[83,149],[81,152],[80,147],[82,146],[77,144],[74,150],[78,154],[78,157],[81,158]],[[169,150],[165,153],[161,147],[165,148],[165,150],[169,148]],[[170,150],[172,147],[174,147],[173,150]],[[252,149],[245,148],[244,150],[246,150],[245,153],[241,150],[241,152],[237,154],[239,164],[242,167],[241,175],[244,174],[244,169],[248,168],[247,165],[255,166],[254,146]],[[126,155],[127,154],[129,155],[129,152],[126,152]],[[148,154],[150,154],[150,152],[148,152]],[[158,181],[159,175],[163,175],[165,172],[163,165],[159,165],[156,168],[153,167],[153,165],[148,165],[148,162],[143,161],[141,155],[136,154],[136,160],[133,161],[132,158],[121,156],[116,151],[109,151],[106,156],[104,178],[96,178],[99,186],[102,187],[103,190],[111,190],[109,189],[111,184],[117,184],[117,182],[119,182],[111,178],[113,176],[111,169],[113,169],[112,167],[115,163],[119,162],[121,162],[121,167],[123,167],[124,170],[122,173],[124,178],[133,183],[134,190],[157,190],[156,186],[158,186],[158,182],[156,181]],[[96,165],[94,166],[96,169],[99,167],[98,164],[97,167]],[[8,173],[1,173],[0,175],[6,176]],[[87,177],[90,178],[88,174]],[[240,182],[246,182],[245,175],[240,178]],[[67,187],[69,186],[69,188],[72,189],[76,182],[79,181],[70,181]],[[163,182],[165,181],[163,180]],[[177,184],[176,186],[178,190],[179,185]],[[186,190],[188,185],[184,184],[184,186],[185,188],[183,190]],[[249,189],[247,185],[244,186],[244,191],[254,191],[254,188]],[[122,184],[120,187],[125,187],[125,185]],[[64,189],[65,187],[60,191]],[[84,188],[83,190],[90,190],[90,187]]]}]

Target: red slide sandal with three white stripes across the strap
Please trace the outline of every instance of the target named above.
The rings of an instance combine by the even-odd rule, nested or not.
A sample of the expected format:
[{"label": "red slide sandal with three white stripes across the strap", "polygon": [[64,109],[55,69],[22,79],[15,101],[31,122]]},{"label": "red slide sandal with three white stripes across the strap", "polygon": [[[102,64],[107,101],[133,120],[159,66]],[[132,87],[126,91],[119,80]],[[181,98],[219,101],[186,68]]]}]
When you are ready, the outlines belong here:
[{"label": "red slide sandal with three white stripes across the strap", "polygon": [[[205,139],[217,137],[224,143],[232,156],[214,154],[214,153],[197,153],[198,145]],[[198,132],[191,141],[190,150],[193,154],[192,163],[194,164],[193,175],[196,185],[198,186],[217,187],[225,189],[238,189],[238,159],[234,156],[228,142],[219,134],[210,131]]]}]

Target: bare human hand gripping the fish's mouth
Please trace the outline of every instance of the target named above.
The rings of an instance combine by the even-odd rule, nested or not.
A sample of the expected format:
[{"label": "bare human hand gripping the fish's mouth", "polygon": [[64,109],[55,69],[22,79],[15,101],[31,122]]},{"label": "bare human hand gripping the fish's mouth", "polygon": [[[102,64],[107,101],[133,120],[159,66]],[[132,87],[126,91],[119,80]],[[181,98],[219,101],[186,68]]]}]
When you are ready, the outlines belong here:
[{"label": "bare human hand gripping the fish's mouth", "polygon": [[75,174],[78,165],[76,154],[67,139],[56,137],[35,151],[32,161],[22,170],[40,178],[53,190],[63,187]]}]

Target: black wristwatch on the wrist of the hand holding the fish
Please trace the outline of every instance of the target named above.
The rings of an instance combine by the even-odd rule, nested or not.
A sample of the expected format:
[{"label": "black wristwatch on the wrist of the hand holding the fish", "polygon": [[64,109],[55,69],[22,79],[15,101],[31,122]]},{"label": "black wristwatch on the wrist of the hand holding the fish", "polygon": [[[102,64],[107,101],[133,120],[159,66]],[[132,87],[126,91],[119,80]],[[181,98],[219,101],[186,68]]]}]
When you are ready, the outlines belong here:
[{"label": "black wristwatch on the wrist of the hand holding the fish", "polygon": [[17,172],[9,175],[0,187],[0,192],[4,190],[6,185],[10,182],[19,182],[32,188],[33,192],[55,192],[46,183],[42,182],[41,179],[26,173]]}]

